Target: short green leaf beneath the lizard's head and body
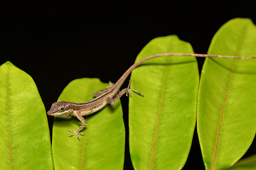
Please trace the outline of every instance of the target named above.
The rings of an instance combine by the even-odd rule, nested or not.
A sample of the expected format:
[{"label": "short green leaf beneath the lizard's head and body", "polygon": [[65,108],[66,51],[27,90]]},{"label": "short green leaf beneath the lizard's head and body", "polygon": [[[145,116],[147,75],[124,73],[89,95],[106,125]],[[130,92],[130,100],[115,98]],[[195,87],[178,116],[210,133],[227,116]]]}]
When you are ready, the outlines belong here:
[{"label": "short green leaf beneath the lizard's head and body", "polygon": [[[58,101],[75,103],[89,101],[93,93],[105,89],[99,79],[75,79],[65,87]],[[124,123],[122,106],[113,106],[85,116],[87,125],[80,141],[68,130],[82,124],[78,118],[55,117],[53,124],[53,161],[55,169],[122,169],[124,166]]]}]

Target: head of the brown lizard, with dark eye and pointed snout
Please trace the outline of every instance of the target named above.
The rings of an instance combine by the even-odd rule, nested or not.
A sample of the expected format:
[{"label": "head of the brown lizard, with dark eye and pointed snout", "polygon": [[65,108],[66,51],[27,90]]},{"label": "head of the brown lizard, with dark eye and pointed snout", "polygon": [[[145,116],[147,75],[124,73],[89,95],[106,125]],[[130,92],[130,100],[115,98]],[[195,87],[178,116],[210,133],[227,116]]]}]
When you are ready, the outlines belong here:
[{"label": "head of the brown lizard, with dark eye and pointed snout", "polygon": [[47,112],[48,115],[70,115],[74,109],[71,107],[71,103],[67,101],[54,102]]}]

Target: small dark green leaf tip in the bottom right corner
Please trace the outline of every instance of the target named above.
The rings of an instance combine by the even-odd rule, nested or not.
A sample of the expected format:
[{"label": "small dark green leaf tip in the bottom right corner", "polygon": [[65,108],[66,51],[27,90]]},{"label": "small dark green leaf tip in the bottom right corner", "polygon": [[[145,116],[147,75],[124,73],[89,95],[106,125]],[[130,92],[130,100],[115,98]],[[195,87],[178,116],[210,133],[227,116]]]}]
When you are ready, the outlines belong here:
[{"label": "small dark green leaf tip in the bottom right corner", "polygon": [[256,154],[240,160],[234,164],[228,170],[255,170],[256,169]]}]

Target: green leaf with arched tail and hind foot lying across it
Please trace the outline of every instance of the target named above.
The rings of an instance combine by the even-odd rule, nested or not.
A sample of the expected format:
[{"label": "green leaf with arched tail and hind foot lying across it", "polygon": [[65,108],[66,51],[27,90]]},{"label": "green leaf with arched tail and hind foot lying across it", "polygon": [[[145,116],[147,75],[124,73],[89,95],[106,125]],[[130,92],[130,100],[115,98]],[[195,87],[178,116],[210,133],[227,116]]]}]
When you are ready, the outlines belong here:
[{"label": "green leaf with arched tail and hind foot lying across it", "polygon": [[[164,52],[193,53],[176,35],[155,38],[138,60]],[[198,91],[196,57],[149,60],[132,72],[129,102],[129,146],[134,169],[181,169],[191,148]]]}]

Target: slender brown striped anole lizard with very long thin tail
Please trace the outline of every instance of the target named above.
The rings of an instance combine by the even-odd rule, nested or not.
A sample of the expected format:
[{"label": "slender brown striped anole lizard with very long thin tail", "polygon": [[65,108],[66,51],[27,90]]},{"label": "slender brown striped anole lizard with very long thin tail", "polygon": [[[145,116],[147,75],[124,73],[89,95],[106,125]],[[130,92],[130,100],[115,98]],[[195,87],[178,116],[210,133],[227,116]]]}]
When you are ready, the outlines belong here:
[{"label": "slender brown striped anole lizard with very long thin tail", "polygon": [[[137,94],[143,96],[139,91],[134,89],[129,89],[131,81],[129,81],[129,85],[126,89],[122,89],[122,91],[119,91],[120,87],[124,83],[124,80],[127,79],[129,74],[132,72],[133,69],[138,67],[143,62],[146,62],[147,60],[151,60],[156,57],[164,57],[164,56],[194,56],[194,57],[225,57],[225,58],[239,58],[239,59],[252,59],[256,57],[234,57],[234,56],[224,56],[224,55],[203,55],[203,54],[188,54],[188,53],[163,53],[163,54],[157,54],[157,55],[151,55],[149,57],[146,57],[142,60],[139,60],[139,62],[134,63],[129,69],[127,69],[126,72],[122,75],[122,77],[119,78],[119,80],[112,84],[107,89],[103,89],[101,91],[95,92],[94,96],[96,98],[92,99],[91,101],[86,101],[83,103],[71,103],[68,101],[60,101],[55,102],[50,108],[50,111],[47,112],[48,115],[61,115],[65,118],[68,118],[68,115],[76,116],[81,122],[82,125],[78,128],[78,130],[69,130],[70,132],[73,132],[73,135],[70,135],[70,137],[76,135],[82,135],[80,134],[80,131],[82,128],[85,128],[85,125],[87,125],[87,121],[85,118],[82,117],[82,115],[90,115],[92,113],[95,113],[99,111],[100,109],[104,108],[107,104],[113,105],[118,98],[120,98],[123,94],[127,94],[127,96],[131,96],[131,91],[135,91]],[[117,92],[119,93],[117,94]],[[103,94],[102,94],[103,93]],[[117,94],[117,95],[116,95]],[[114,98],[113,98],[114,97]],[[83,136],[83,135],[82,135]],[[78,137],[78,140],[79,137]]]}]

